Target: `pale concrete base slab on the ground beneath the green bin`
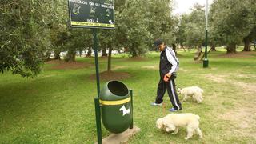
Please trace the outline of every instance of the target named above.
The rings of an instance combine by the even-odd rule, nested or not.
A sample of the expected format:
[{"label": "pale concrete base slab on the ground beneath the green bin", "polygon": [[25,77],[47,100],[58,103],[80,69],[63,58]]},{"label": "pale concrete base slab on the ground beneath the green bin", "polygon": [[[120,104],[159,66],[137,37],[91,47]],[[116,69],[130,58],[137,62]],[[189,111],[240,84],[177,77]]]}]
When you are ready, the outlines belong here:
[{"label": "pale concrete base slab on the ground beneath the green bin", "polygon": [[[110,136],[103,139],[103,144],[120,144],[128,142],[134,134],[138,133],[141,129],[137,126],[134,126],[133,129],[127,129],[126,131],[120,134],[110,134]],[[98,142],[96,142],[98,143]]]}]

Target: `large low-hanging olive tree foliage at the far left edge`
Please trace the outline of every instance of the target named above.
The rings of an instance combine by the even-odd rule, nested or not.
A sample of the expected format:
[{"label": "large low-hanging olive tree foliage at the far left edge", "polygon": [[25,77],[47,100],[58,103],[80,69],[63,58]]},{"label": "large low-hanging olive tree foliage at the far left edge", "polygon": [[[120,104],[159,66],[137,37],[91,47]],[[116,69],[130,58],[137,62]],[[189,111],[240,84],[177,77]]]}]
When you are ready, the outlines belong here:
[{"label": "large low-hanging olive tree foliage at the far left edge", "polygon": [[40,66],[47,41],[44,1],[0,2],[0,70],[33,77]]}]

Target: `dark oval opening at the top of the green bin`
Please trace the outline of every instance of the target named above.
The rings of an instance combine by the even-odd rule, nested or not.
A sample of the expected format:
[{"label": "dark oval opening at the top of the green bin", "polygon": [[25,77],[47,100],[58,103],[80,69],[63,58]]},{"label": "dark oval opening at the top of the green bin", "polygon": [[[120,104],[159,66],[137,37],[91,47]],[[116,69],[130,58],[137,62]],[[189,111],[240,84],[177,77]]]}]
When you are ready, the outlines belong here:
[{"label": "dark oval opening at the top of the green bin", "polygon": [[122,97],[128,94],[128,88],[122,82],[111,81],[108,83],[107,87],[114,95]]}]

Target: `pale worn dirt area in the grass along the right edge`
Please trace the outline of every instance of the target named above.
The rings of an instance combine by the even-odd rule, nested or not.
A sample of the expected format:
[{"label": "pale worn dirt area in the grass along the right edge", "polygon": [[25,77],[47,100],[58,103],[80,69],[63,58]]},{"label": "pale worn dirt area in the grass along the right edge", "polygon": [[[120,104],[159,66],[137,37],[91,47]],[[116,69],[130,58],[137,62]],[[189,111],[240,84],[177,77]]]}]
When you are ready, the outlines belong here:
[{"label": "pale worn dirt area in the grass along the right edge", "polygon": [[[244,77],[244,75],[243,75]],[[231,80],[228,75],[206,74],[205,78],[217,83],[229,83],[239,90],[232,97],[237,97],[233,110],[228,110],[218,115],[218,118],[229,121],[232,124],[232,130],[228,130],[230,134],[239,134],[244,137],[256,137],[256,84],[238,82]]]}]

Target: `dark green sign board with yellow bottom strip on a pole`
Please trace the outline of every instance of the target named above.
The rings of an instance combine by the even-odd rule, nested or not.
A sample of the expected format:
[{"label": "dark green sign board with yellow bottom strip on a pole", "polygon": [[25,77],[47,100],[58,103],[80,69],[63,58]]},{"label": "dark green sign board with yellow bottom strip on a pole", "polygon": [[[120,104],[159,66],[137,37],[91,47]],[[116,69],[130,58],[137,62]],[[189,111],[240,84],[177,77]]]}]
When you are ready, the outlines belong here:
[{"label": "dark green sign board with yellow bottom strip on a pole", "polygon": [[71,27],[114,29],[114,0],[68,0]]}]

